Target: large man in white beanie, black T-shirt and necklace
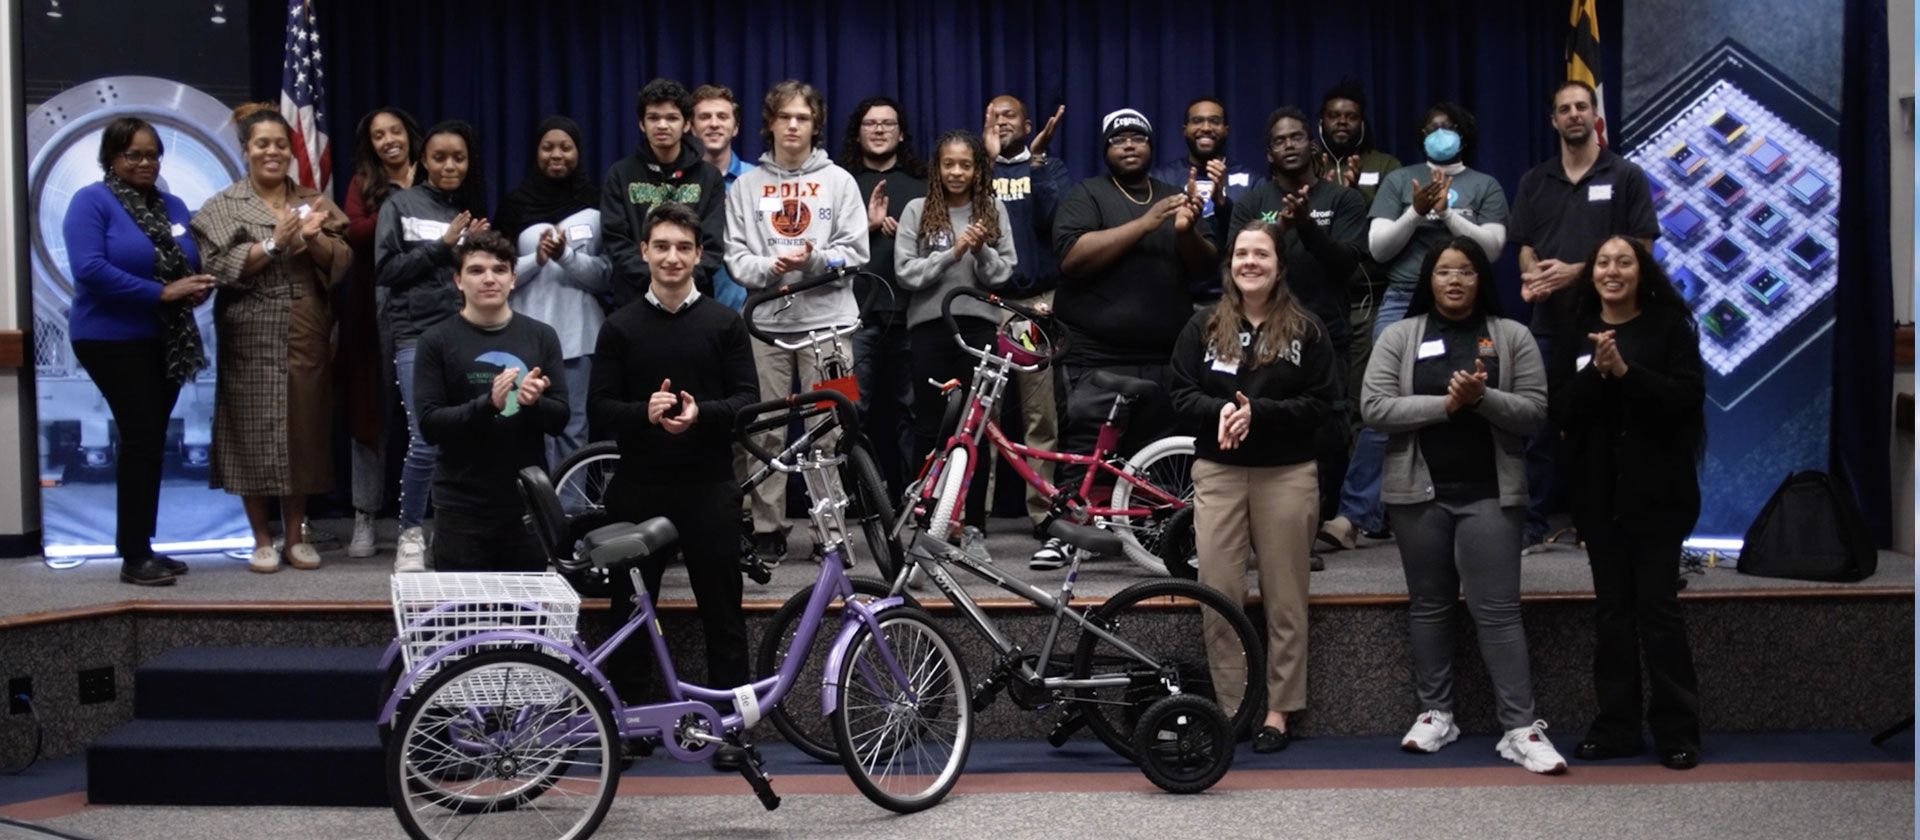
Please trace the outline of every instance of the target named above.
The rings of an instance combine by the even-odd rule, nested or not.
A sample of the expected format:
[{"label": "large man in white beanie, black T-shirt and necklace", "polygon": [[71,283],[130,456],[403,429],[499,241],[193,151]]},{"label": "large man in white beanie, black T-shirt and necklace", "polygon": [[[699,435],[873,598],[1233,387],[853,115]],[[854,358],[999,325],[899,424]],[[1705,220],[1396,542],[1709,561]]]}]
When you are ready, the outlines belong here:
[{"label": "large man in white beanie, black T-shirt and necklace", "polygon": [[[1194,224],[1200,198],[1194,171],[1185,184],[1148,178],[1154,125],[1123,107],[1100,121],[1106,173],[1081,180],[1054,213],[1060,290],[1054,313],[1068,326],[1066,355],[1054,366],[1068,395],[1060,433],[1066,453],[1091,453],[1112,393],[1089,387],[1094,370],[1160,385],[1133,403],[1119,451],[1131,453],[1173,428],[1167,361],[1192,318],[1190,290],[1213,261],[1212,224]],[[1056,483],[1079,487],[1083,470],[1060,464]]]}]

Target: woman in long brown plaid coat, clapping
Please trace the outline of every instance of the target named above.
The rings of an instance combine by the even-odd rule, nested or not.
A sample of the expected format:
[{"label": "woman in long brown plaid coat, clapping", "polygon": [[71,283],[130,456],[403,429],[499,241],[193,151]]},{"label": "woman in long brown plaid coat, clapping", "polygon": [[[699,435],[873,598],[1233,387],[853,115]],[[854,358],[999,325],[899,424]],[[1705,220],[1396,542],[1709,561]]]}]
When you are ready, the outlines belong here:
[{"label": "woman in long brown plaid coat, clapping", "polygon": [[253,527],[253,572],[278,572],[267,502],[280,497],[286,560],[319,568],[301,541],[307,495],[332,489],[332,307],[353,265],[348,219],[290,178],[292,130],[273,105],[234,111],[248,176],[194,215],[194,244],[219,293],[219,384],[213,401],[213,487],[242,497]]}]

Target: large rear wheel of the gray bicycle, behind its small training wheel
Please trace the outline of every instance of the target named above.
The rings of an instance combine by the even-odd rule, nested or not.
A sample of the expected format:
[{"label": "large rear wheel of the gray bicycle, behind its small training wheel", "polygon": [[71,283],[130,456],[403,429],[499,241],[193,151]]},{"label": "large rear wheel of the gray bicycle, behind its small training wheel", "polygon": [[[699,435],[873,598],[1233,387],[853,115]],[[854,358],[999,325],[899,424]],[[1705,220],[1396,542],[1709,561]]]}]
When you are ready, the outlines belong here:
[{"label": "large rear wheel of the gray bicycle, behind its small training wheel", "polygon": [[[1133,731],[1156,700],[1173,694],[1165,681],[1177,681],[1181,694],[1198,694],[1219,704],[1235,738],[1265,713],[1267,658],[1260,631],[1240,604],[1217,589],[1179,579],[1135,583],[1087,616],[1094,627],[1112,633],[1150,656],[1140,662],[1114,642],[1081,629],[1073,654],[1073,677],[1125,675],[1127,685],[1075,688],[1075,702],[1087,715],[1087,729],[1116,754],[1139,761]],[[1215,637],[1221,656],[1210,656]]]}]

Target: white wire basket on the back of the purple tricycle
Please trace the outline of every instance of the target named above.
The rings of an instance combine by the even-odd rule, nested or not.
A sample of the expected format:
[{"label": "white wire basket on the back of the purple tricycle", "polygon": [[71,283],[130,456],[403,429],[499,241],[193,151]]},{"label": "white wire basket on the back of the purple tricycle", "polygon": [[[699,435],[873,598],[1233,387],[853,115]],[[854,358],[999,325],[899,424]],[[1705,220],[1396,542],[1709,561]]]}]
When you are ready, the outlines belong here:
[{"label": "white wire basket on the back of the purple tricycle", "polygon": [[[426,572],[392,577],[394,625],[407,667],[436,650],[490,631],[524,631],[572,646],[580,627],[580,593],[564,577],[540,572]],[[524,642],[482,642],[447,656],[420,673],[415,687],[442,665],[484,650],[524,646]],[[553,652],[551,648],[540,648]],[[555,656],[559,656],[555,652]]]}]

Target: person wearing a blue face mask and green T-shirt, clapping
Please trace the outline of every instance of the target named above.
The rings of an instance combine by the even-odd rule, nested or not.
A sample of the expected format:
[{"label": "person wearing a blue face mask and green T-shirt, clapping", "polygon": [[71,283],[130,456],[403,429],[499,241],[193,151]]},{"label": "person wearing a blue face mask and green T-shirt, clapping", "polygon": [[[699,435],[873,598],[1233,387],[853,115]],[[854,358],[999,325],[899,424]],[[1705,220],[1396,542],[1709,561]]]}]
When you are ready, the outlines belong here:
[{"label": "person wearing a blue face mask and green T-shirt, clapping", "polygon": [[[1367,247],[1386,267],[1386,293],[1373,322],[1373,339],[1407,313],[1421,284],[1421,263],[1436,244],[1463,236],[1494,259],[1507,244],[1507,194],[1492,175],[1467,167],[1473,153],[1473,113],[1452,102],[1436,104],[1421,119],[1427,161],[1400,167],[1380,178],[1373,198]],[[1340,489],[1340,516],[1323,531],[1352,548],[1359,533],[1386,535],[1380,506],[1380,458],[1386,435],[1361,430]]]}]

